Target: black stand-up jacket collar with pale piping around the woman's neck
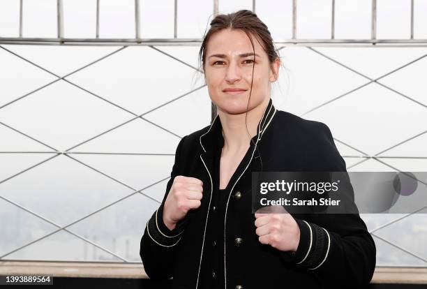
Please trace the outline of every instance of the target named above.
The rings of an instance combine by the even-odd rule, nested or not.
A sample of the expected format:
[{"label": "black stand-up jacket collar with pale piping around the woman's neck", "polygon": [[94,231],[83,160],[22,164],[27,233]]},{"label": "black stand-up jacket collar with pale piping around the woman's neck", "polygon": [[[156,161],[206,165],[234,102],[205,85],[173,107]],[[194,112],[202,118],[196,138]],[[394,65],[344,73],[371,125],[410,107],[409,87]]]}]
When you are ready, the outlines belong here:
[{"label": "black stand-up jacket collar with pale piping around the woman's neck", "polygon": [[[269,101],[269,104],[267,105],[267,108],[264,110],[264,113],[262,114],[262,117],[257,125],[257,135],[255,135],[252,138],[252,142],[250,142],[250,146],[257,143],[257,140],[260,141],[262,138],[262,135],[264,134],[264,131],[269,126],[271,119],[273,119],[274,114],[276,114],[276,108],[273,105],[273,101]],[[217,114],[215,119],[213,119],[211,126],[209,127],[209,130],[200,135],[200,146],[202,147],[203,151],[212,151],[213,147],[216,145],[220,145],[220,147],[223,147],[224,145],[224,138],[222,133],[223,126],[221,125],[221,121],[219,118],[219,115]]]}]

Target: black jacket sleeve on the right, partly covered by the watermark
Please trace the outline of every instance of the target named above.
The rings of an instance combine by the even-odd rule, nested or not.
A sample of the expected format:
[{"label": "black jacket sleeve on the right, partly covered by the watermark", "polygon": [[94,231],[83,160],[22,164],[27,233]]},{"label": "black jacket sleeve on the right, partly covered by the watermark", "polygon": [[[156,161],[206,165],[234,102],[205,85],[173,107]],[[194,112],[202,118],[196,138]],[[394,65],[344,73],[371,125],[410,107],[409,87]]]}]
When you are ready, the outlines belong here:
[{"label": "black jacket sleeve on the right, partly covered by the watermark", "polygon": [[[313,171],[345,172],[345,161],[334,144],[326,124],[316,122]],[[350,179],[349,179],[350,181]],[[351,187],[351,185],[350,185]],[[348,193],[348,192],[346,192]],[[354,192],[347,196],[354,204]],[[370,282],[375,269],[375,242],[356,214],[310,214],[306,220],[295,218],[301,232],[296,252],[283,252],[287,261],[312,272],[325,288],[361,288]]]}]

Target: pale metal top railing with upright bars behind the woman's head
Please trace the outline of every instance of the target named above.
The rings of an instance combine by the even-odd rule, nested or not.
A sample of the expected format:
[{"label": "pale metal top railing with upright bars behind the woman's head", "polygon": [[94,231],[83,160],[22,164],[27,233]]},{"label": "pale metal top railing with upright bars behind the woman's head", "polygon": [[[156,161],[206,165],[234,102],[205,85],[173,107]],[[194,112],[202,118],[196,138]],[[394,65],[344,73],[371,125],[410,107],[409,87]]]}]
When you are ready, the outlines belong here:
[{"label": "pale metal top railing with upright bars behind the woman's head", "polygon": [[[23,0],[20,0],[20,21],[19,21],[19,37],[0,37],[0,44],[44,44],[44,45],[200,45],[202,38],[178,38],[178,0],[174,0],[174,37],[173,38],[141,38],[140,8],[143,0],[134,0],[134,22],[135,22],[135,38],[100,38],[100,7],[102,1],[96,0],[96,37],[95,38],[65,38],[63,37],[63,0],[57,0],[57,38],[25,38],[22,37],[23,24]],[[410,2],[410,38],[408,39],[377,39],[377,0],[371,0],[371,19],[370,19],[370,39],[336,39],[335,38],[335,16],[336,16],[336,1],[331,0],[331,38],[329,39],[299,39],[297,37],[297,17],[298,17],[298,1],[292,0],[292,38],[291,39],[275,39],[275,43],[280,45],[297,45],[297,46],[400,46],[400,47],[426,47],[427,39],[414,39],[414,0]],[[252,1],[252,10],[255,12],[256,1]],[[0,3],[1,8],[1,3]],[[218,0],[213,0],[213,14],[218,11]]]}]

